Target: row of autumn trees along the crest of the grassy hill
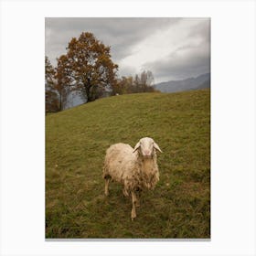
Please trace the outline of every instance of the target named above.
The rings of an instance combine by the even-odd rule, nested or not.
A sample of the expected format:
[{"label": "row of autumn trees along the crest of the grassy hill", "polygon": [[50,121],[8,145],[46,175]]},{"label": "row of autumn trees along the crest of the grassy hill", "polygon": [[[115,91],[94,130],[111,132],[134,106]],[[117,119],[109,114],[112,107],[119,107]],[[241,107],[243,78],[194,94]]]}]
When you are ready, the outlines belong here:
[{"label": "row of autumn trees along the crest of the grassy hill", "polygon": [[56,68],[46,56],[46,112],[64,110],[70,93],[90,102],[108,95],[154,91],[151,71],[117,78],[118,65],[112,62],[110,50],[93,34],[83,32],[70,40],[67,54],[57,59]]}]

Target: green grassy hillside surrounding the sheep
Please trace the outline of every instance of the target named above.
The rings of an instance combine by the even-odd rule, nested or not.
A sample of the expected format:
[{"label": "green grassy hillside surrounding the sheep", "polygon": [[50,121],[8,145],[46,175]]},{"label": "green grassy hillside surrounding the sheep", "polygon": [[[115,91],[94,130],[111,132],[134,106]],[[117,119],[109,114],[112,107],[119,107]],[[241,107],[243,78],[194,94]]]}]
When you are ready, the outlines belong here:
[{"label": "green grassy hillside surrounding the sheep", "polygon": [[[105,150],[155,139],[160,182],[137,219],[119,184],[103,194]],[[46,117],[46,238],[209,238],[210,92],[114,96]]]}]

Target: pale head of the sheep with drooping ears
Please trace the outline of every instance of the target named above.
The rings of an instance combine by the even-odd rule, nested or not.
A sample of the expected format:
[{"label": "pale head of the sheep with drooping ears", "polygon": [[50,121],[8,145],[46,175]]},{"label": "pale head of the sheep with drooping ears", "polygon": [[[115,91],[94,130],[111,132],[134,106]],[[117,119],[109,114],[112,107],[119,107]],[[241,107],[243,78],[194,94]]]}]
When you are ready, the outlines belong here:
[{"label": "pale head of the sheep with drooping ears", "polygon": [[159,152],[162,152],[158,144],[152,138],[142,138],[140,141],[134,146],[133,152],[139,150],[140,154],[144,156],[144,158],[150,158],[154,155],[155,149]]}]

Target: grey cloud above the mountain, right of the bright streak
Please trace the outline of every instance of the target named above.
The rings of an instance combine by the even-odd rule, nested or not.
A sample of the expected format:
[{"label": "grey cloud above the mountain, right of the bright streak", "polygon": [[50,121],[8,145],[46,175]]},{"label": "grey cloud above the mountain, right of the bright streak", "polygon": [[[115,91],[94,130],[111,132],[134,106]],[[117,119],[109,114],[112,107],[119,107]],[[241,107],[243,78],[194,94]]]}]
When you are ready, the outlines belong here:
[{"label": "grey cloud above the mountain, right of the bright streak", "polygon": [[144,69],[152,70],[157,81],[183,80],[210,72],[210,19],[201,19],[190,27],[185,43],[165,59],[144,63]]}]

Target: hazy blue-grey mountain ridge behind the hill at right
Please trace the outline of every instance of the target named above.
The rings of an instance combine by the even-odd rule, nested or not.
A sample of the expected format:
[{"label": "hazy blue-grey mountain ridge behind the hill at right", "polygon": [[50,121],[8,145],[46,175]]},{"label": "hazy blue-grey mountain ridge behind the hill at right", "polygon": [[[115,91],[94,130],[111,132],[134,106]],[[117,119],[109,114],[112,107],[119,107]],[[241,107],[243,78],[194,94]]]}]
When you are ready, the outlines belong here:
[{"label": "hazy blue-grey mountain ridge behind the hill at right", "polygon": [[210,87],[210,73],[186,80],[169,80],[155,84],[155,90],[162,92],[190,91]]}]

